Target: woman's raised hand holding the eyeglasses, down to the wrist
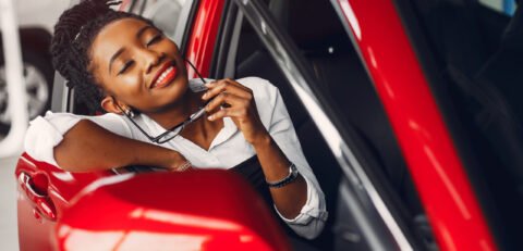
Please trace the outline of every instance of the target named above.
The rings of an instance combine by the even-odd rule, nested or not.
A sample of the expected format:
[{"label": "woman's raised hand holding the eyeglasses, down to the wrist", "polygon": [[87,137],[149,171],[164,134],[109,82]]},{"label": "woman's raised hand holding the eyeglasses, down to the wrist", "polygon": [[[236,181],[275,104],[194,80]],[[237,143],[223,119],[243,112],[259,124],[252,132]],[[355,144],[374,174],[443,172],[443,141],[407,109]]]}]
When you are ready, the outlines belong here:
[{"label": "woman's raised hand holding the eyeglasses, down to the wrist", "polygon": [[267,141],[269,134],[259,120],[253,91],[230,78],[206,84],[208,90],[202,97],[210,102],[205,108],[209,121],[231,117],[251,145]]}]

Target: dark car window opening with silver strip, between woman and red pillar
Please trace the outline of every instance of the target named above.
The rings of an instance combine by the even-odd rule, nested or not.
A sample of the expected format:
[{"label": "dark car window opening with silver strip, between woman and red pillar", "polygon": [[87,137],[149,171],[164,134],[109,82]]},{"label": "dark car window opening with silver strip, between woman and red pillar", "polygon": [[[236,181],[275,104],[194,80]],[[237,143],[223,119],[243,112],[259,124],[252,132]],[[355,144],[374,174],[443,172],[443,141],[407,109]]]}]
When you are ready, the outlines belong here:
[{"label": "dark car window opening with silver strip, between woman and red pillar", "polygon": [[[230,1],[226,13],[210,76],[258,76],[279,88],[329,211],[326,229],[309,243],[323,250],[435,248],[372,80],[332,5]],[[321,18],[326,23],[313,27]]]}]

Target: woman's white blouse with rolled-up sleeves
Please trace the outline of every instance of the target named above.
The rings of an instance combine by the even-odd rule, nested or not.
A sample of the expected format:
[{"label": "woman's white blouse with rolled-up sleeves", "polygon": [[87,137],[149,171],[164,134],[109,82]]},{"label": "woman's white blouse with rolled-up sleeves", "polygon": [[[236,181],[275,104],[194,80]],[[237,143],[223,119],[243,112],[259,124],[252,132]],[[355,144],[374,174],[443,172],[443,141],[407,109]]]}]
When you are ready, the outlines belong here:
[{"label": "woman's white blouse with rolled-up sleeves", "polygon": [[[307,184],[307,201],[295,218],[285,218],[278,210],[276,211],[296,234],[308,239],[315,238],[320,234],[328,216],[325,196],[305,160],[281,95],[277,87],[258,77],[246,77],[238,79],[238,81],[253,90],[262,123],[285,156],[296,165]],[[202,90],[202,85],[200,79],[190,80],[190,87],[193,91]],[[63,135],[80,120],[89,120],[123,137],[150,142],[136,126],[122,115],[107,113],[99,116],[82,116],[71,113],[47,112],[44,117],[38,116],[31,122],[25,137],[25,151],[35,160],[58,166],[53,148],[61,142]],[[165,128],[146,115],[137,115],[135,121],[153,137],[166,131]],[[223,128],[212,140],[208,150],[198,147],[182,136],[177,136],[161,146],[179,151],[198,168],[228,170],[234,167],[255,155],[256,152],[230,117],[223,118]]]}]

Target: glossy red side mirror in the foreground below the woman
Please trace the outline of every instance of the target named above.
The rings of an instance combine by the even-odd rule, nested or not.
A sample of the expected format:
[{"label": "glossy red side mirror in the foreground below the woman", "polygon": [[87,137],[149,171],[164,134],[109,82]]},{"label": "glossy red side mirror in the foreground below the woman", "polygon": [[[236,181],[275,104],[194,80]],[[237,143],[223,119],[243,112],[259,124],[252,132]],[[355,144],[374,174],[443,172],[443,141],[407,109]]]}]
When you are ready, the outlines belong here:
[{"label": "glossy red side mirror in the foreground below the woman", "polygon": [[75,197],[58,250],[290,250],[265,202],[227,171],[104,178]]}]

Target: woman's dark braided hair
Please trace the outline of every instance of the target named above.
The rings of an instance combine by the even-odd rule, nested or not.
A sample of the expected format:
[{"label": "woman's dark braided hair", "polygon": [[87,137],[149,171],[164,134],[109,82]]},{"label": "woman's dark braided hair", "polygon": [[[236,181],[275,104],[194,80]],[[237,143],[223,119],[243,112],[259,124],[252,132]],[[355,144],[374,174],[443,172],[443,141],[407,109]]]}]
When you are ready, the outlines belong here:
[{"label": "woman's dark braided hair", "polygon": [[92,114],[104,112],[100,106],[104,90],[88,68],[90,46],[96,35],[107,24],[126,17],[154,26],[151,21],[139,15],[111,9],[119,3],[113,0],[84,0],[64,11],[54,25],[52,64],[68,80],[68,87],[74,88],[75,99],[84,102]]}]

